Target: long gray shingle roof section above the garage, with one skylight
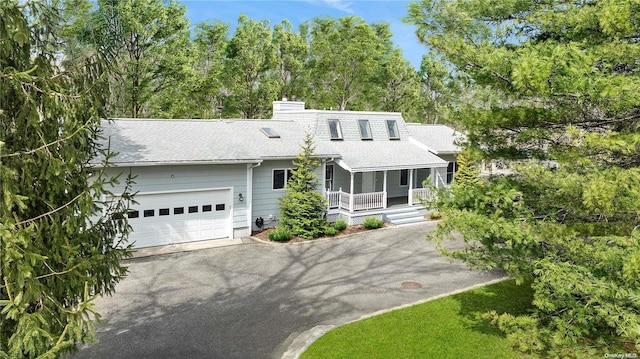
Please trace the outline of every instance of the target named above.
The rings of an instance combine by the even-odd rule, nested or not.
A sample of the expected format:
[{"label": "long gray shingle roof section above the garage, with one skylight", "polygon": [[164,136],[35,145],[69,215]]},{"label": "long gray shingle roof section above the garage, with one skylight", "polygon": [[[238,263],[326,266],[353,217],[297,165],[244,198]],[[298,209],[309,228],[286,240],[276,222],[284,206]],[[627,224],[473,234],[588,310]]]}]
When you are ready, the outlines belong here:
[{"label": "long gray shingle roof section above the garage, with one skylight", "polygon": [[[280,138],[268,138],[271,127]],[[274,120],[155,120],[103,121],[104,145],[118,152],[114,164],[256,162],[292,158],[300,153],[305,127]],[[331,146],[318,143],[315,153],[336,156]]]}]

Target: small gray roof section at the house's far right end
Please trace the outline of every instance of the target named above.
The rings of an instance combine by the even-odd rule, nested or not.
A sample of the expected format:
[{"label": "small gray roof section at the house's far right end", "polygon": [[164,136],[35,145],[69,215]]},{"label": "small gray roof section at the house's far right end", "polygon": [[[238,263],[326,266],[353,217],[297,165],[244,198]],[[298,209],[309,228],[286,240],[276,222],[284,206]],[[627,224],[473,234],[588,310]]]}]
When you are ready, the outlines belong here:
[{"label": "small gray roof section at the house's far right end", "polygon": [[451,127],[444,125],[423,125],[407,123],[407,129],[412,138],[429,148],[436,154],[460,152],[456,139],[463,139],[464,135]]}]

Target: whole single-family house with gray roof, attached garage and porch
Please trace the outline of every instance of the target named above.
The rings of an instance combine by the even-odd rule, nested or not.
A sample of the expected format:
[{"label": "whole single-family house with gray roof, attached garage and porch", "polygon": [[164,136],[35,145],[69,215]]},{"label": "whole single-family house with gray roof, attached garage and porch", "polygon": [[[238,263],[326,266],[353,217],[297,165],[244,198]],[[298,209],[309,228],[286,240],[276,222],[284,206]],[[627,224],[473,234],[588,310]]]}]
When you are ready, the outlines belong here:
[{"label": "whole single-family house with gray roof, attached garage and porch", "polygon": [[427,195],[423,181],[451,182],[456,133],[446,126],[407,124],[399,113],[309,110],[284,99],[273,110],[271,120],[103,121],[105,145],[118,153],[108,174],[135,176],[137,204],[128,214],[135,247],[244,237],[277,225],[278,199],[307,131],[329,221],[383,218],[399,204],[415,210]]}]

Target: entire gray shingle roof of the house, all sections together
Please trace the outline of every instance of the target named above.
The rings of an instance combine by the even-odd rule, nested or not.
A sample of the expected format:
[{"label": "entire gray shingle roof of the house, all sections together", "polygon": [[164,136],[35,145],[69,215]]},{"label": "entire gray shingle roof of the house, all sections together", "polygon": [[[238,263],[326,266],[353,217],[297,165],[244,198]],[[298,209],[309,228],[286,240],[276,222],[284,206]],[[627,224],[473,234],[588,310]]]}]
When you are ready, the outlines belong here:
[{"label": "entire gray shingle roof of the house, all sections together", "polygon": [[[327,120],[339,119],[344,139],[329,138]],[[360,139],[357,121],[367,119],[373,140]],[[386,120],[395,120],[399,140],[388,137]],[[279,138],[260,131],[269,127]],[[272,120],[160,120],[103,121],[104,144],[118,152],[115,165],[179,163],[248,163],[294,158],[305,131],[314,134],[315,154],[336,158],[352,171],[441,167],[434,153],[453,153],[456,132],[442,125],[405,124],[399,113],[356,111],[287,111]]]}]

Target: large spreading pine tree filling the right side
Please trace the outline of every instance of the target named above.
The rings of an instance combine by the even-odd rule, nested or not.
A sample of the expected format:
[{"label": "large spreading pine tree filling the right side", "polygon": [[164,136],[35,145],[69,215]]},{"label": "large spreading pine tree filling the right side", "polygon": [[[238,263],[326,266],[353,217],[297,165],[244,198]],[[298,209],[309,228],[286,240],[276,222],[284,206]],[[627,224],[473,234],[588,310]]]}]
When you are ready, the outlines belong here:
[{"label": "large spreading pine tree filling the right side", "polygon": [[[640,4],[423,0],[419,38],[476,88],[462,123],[508,176],[455,193],[436,238],[531,285],[491,318],[525,351],[640,350]],[[616,346],[617,345],[617,346]]]}]

